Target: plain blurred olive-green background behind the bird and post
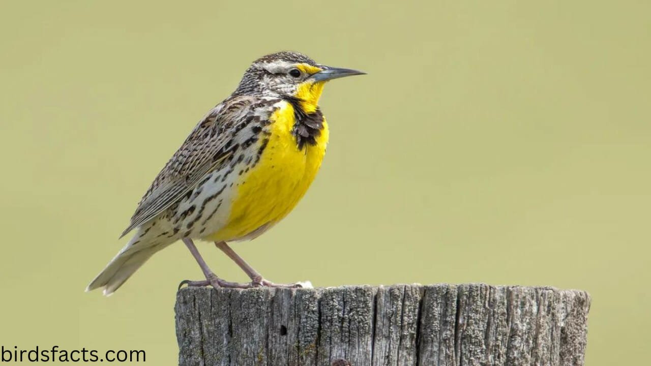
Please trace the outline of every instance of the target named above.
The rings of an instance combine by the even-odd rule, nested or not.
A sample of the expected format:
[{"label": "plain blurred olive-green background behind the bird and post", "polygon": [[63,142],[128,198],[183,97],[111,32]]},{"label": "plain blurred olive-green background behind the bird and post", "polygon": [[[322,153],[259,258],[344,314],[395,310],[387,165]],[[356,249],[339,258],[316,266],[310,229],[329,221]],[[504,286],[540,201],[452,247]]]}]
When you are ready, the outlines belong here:
[{"label": "plain blurred olive-green background behind the bird and post", "polygon": [[[331,143],[283,223],[235,244],[273,281],[585,289],[587,364],[651,341],[651,6],[643,1],[3,1],[0,345],[176,363],[184,246],[83,289],[141,195],[257,57],[367,76],[321,100]],[[199,249],[230,280],[245,276]]]}]

